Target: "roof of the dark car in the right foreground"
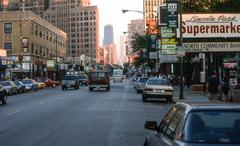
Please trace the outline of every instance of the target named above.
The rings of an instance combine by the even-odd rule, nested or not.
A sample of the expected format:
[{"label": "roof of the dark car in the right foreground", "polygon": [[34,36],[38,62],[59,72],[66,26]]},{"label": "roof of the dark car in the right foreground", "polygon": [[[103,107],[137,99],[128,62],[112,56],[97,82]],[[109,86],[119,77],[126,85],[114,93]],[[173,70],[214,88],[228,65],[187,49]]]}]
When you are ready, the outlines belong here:
[{"label": "roof of the dark car in the right foreground", "polygon": [[240,104],[230,103],[179,102],[176,105],[185,106],[187,112],[193,110],[240,110]]}]

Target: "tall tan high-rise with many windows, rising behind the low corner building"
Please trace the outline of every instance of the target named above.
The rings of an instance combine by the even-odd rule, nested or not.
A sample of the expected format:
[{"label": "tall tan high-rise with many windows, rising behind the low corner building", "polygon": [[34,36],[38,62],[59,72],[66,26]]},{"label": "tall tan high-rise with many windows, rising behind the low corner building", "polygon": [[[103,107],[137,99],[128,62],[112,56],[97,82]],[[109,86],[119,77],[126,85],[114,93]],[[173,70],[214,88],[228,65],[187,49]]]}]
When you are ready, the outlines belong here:
[{"label": "tall tan high-rise with many windows, rising behind the low corner building", "polygon": [[90,0],[51,1],[44,18],[68,34],[68,56],[96,58],[99,47],[98,7]]}]

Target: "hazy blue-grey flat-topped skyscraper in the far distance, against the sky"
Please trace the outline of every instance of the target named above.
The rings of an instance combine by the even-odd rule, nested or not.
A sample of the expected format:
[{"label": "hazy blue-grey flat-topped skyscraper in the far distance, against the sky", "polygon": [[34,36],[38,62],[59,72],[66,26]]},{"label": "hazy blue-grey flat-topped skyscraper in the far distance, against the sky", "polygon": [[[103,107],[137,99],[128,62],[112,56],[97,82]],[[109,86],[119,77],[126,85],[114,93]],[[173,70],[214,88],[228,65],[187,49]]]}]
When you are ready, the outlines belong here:
[{"label": "hazy blue-grey flat-topped skyscraper in the far distance, against the sky", "polygon": [[104,26],[104,39],[103,45],[110,45],[114,43],[113,37],[113,26],[112,25],[105,25]]}]

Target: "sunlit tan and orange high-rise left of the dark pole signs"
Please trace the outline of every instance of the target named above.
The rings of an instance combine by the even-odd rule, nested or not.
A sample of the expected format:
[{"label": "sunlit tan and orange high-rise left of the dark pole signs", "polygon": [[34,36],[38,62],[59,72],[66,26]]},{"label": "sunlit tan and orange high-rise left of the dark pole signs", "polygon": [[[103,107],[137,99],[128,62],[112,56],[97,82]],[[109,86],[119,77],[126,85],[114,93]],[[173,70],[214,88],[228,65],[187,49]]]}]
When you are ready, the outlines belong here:
[{"label": "sunlit tan and orange high-rise left of the dark pole signs", "polygon": [[157,34],[157,8],[165,0],[143,0],[145,29],[148,34]]}]

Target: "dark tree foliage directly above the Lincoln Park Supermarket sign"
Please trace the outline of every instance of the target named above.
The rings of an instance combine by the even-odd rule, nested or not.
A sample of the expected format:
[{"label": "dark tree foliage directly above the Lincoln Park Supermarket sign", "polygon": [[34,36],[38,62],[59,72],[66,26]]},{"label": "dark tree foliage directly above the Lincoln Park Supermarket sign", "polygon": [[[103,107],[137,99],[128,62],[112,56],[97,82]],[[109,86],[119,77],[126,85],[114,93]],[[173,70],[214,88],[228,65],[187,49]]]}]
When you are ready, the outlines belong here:
[{"label": "dark tree foliage directly above the Lincoln Park Supermarket sign", "polygon": [[240,12],[240,0],[183,0],[183,12]]}]

